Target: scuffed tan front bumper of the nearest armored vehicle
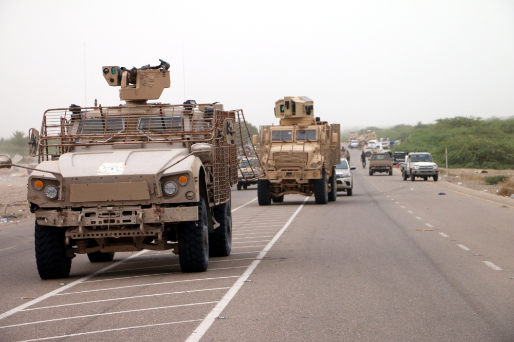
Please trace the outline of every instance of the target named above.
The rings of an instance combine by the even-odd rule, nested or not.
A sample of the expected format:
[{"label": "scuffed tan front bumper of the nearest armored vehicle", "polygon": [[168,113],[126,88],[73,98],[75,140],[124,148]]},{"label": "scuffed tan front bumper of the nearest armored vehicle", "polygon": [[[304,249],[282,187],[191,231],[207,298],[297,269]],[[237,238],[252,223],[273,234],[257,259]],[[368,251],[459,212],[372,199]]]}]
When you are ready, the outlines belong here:
[{"label": "scuffed tan front bumper of the nearest armored vehicle", "polygon": [[142,209],[138,206],[112,206],[84,208],[82,211],[40,209],[35,212],[38,224],[56,227],[91,227],[108,229],[126,225],[143,225],[197,221],[198,207],[179,206],[170,208]]}]

